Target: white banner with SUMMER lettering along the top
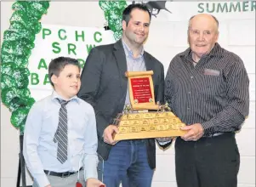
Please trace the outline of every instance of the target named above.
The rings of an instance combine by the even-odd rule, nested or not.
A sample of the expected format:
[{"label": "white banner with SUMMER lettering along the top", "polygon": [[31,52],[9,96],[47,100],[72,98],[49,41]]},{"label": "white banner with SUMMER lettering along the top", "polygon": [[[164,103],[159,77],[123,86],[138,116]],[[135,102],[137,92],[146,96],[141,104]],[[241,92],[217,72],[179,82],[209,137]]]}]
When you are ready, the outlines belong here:
[{"label": "white banner with SUMMER lettering along the top", "polygon": [[[141,3],[141,1],[135,1]],[[187,21],[194,14],[213,14],[221,20],[245,20],[255,17],[256,1],[143,1],[153,20]]]}]

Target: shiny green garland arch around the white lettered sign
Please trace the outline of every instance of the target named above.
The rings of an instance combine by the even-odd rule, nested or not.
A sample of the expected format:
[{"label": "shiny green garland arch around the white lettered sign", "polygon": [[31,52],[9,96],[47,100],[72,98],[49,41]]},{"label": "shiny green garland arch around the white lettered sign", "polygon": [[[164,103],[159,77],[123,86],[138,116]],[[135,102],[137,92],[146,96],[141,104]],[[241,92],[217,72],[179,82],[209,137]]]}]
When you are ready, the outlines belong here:
[{"label": "shiny green garland arch around the white lettered sign", "polygon": [[[35,47],[35,39],[41,31],[41,18],[47,13],[48,1],[17,1],[12,5],[14,13],[10,26],[3,33],[1,49],[1,88],[3,105],[12,112],[11,123],[23,133],[26,116],[35,103],[28,88],[30,71],[28,59]],[[100,1],[105,20],[114,37],[122,37],[122,11],[127,7],[125,0]]]}]

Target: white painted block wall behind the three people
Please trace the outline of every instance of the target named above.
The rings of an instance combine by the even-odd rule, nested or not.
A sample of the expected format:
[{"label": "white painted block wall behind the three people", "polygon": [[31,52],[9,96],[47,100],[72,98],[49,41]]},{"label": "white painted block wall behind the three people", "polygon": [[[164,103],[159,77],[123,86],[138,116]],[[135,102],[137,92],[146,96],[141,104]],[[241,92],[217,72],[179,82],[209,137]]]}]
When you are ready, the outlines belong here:
[{"label": "white painted block wall behind the three people", "polygon": [[[9,28],[11,5],[12,3],[8,2],[1,3],[1,41],[3,41],[3,31]],[[165,71],[174,55],[187,48],[187,20],[195,14],[188,13],[187,7],[190,6],[185,10],[182,9],[185,8],[183,5],[178,7],[173,9],[170,7],[173,15],[162,13],[159,14],[157,21],[152,20],[150,37],[145,44],[145,49],[162,61]],[[164,20],[168,16],[176,17],[174,20]],[[241,154],[238,186],[253,187],[255,186],[255,17],[245,16],[244,19],[240,19],[235,16],[233,19],[222,19],[222,15],[216,16],[220,22],[219,43],[241,56],[250,78],[250,114],[242,131],[236,135],[236,140]],[[98,3],[59,2],[50,3],[48,14],[43,16],[42,22],[64,26],[102,27],[105,19]],[[17,177],[19,132],[9,122],[11,114],[8,109],[3,105],[1,109],[1,186],[12,187],[15,186]],[[177,186],[174,172],[174,146],[165,151],[158,149],[156,154],[156,173],[152,186]],[[31,184],[31,178],[27,178],[27,182]]]}]

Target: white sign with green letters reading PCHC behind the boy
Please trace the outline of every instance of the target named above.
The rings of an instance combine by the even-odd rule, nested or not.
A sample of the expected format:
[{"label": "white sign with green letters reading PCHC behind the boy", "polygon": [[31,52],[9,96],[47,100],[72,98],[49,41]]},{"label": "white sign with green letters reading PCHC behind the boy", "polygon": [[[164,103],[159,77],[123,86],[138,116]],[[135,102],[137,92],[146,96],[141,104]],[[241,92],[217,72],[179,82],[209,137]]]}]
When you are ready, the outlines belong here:
[{"label": "white sign with green letters reading PCHC behind the boy", "polygon": [[68,56],[77,59],[83,67],[92,48],[112,42],[115,42],[112,31],[104,28],[43,25],[28,65],[32,97],[37,100],[51,94],[52,86],[48,80],[51,59]]}]

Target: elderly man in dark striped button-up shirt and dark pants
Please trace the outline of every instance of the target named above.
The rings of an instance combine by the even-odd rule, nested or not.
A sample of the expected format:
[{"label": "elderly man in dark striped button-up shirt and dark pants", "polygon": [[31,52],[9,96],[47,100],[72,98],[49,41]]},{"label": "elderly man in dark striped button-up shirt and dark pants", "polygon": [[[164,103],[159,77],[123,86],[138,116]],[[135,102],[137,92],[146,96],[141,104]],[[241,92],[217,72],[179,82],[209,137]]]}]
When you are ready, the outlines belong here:
[{"label": "elderly man in dark striped button-up shirt and dark pants", "polygon": [[219,21],[191,17],[190,48],[168,67],[165,99],[187,125],[175,142],[179,187],[235,187],[240,155],[235,133],[249,109],[249,80],[242,59],[219,46]]}]

